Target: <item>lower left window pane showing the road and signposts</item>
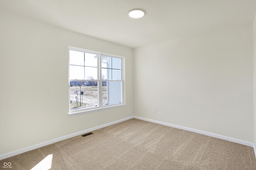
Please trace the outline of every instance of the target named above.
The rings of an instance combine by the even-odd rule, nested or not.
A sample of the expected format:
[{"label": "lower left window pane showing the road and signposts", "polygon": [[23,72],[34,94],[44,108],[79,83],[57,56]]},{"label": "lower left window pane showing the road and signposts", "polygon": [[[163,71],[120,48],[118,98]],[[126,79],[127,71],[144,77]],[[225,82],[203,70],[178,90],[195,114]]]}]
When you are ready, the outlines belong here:
[{"label": "lower left window pane showing the road and signposts", "polygon": [[98,106],[97,81],[70,82],[70,109],[95,108]]}]

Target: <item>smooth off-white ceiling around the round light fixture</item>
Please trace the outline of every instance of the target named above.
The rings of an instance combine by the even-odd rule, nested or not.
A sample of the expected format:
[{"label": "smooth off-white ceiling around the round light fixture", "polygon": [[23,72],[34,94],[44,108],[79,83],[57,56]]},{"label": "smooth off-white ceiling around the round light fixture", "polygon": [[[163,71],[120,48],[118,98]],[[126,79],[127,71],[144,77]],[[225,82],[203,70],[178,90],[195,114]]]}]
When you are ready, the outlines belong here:
[{"label": "smooth off-white ceiling around the round light fixture", "polygon": [[[130,18],[134,8],[146,15]],[[250,24],[256,0],[0,0],[0,10],[136,48]]]}]

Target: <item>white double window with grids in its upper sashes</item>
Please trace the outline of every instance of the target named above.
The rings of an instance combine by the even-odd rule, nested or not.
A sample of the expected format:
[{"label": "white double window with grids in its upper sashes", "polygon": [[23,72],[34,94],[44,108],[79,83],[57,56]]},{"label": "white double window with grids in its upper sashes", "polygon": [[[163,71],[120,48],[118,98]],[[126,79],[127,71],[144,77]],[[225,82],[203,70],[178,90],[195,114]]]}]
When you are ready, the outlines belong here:
[{"label": "white double window with grids in its upper sashes", "polygon": [[124,58],[69,47],[69,113],[125,106]]}]

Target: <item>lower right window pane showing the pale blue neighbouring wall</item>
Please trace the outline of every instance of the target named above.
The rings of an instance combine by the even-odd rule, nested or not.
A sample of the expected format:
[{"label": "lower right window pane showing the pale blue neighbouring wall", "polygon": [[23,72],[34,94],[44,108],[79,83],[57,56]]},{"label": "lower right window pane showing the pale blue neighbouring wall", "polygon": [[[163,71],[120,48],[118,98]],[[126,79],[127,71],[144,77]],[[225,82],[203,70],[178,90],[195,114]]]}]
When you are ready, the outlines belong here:
[{"label": "lower right window pane showing the pale blue neighbouring wall", "polygon": [[122,102],[121,82],[103,81],[102,82],[102,101],[103,106],[118,104]]}]

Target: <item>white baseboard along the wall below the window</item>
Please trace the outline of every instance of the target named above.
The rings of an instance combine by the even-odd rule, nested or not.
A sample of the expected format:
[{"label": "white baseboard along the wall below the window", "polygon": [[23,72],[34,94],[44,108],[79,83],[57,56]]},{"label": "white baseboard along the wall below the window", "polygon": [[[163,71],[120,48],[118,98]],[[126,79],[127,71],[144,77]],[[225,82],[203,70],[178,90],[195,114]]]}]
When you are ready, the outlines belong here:
[{"label": "white baseboard along the wall below the window", "polygon": [[53,144],[53,143],[59,142],[61,140],[65,140],[65,139],[68,139],[68,138],[72,138],[74,136],[78,136],[78,135],[81,135],[81,134],[84,134],[84,133],[87,133],[87,132],[91,132],[91,131],[94,131],[94,130],[97,130],[97,129],[100,129],[100,128],[104,128],[104,127],[107,127],[107,126],[110,126],[110,125],[113,125],[113,124],[116,124],[116,123],[120,123],[120,122],[123,122],[125,120],[132,119],[132,118],[134,118],[134,116],[130,116],[128,118],[124,118],[124,119],[121,119],[121,120],[116,120],[114,122],[110,122],[110,123],[107,123],[107,124],[96,126],[94,128],[90,128],[90,129],[87,129],[87,130],[83,130],[83,131],[80,131],[80,132],[76,132],[76,133],[73,133],[73,134],[62,136],[60,138],[55,138],[55,139],[52,139],[52,140],[48,140],[46,142],[42,142],[40,144],[35,144],[35,145],[32,145],[32,146],[28,146],[26,148],[22,148],[22,149],[19,149],[19,150],[14,150],[12,152],[8,152],[6,154],[0,155],[0,160],[5,159],[5,158],[9,158],[11,156],[15,156],[15,155],[18,155],[18,154],[22,154],[24,152],[28,152],[30,150],[34,150],[34,149],[40,148],[42,146]]}]

